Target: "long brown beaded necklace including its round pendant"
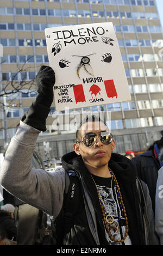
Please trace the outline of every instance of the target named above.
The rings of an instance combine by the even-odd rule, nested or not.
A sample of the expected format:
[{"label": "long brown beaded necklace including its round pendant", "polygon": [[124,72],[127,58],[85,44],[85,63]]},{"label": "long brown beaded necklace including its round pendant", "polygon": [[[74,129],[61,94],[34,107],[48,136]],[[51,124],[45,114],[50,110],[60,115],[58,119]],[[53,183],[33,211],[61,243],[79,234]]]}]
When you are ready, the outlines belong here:
[{"label": "long brown beaded necklace including its round pendant", "polygon": [[114,220],[114,217],[111,215],[111,214],[108,214],[106,215],[105,214],[105,206],[104,206],[104,203],[103,203],[103,200],[99,194],[99,191],[98,191],[98,187],[96,186],[96,182],[95,180],[93,179],[94,183],[95,183],[95,186],[96,186],[96,190],[97,190],[97,194],[98,194],[98,199],[99,199],[99,203],[101,205],[101,209],[102,209],[102,216],[103,216],[103,221],[104,221],[104,224],[105,224],[105,228],[106,228],[106,231],[108,232],[109,234],[109,237],[112,241],[115,241],[115,242],[124,242],[124,240],[126,239],[126,237],[128,236],[128,218],[127,218],[127,214],[126,214],[126,209],[125,209],[125,206],[124,206],[124,203],[123,203],[123,199],[122,199],[122,194],[121,194],[121,191],[120,191],[120,187],[118,185],[118,182],[117,182],[117,179],[116,179],[116,176],[114,175],[114,173],[112,172],[112,170],[110,168],[109,169],[109,172],[111,174],[111,176],[113,177],[113,180],[114,180],[114,183],[115,183],[115,187],[116,187],[116,192],[118,194],[118,199],[120,200],[120,206],[121,206],[121,211],[122,211],[122,215],[121,217],[117,220],[120,221],[122,216],[124,215],[124,218],[125,218],[125,221],[126,221],[126,234],[123,236],[123,239],[115,239],[112,235],[111,235],[111,232],[110,230],[112,229],[112,226],[111,224],[115,223],[115,220]]}]

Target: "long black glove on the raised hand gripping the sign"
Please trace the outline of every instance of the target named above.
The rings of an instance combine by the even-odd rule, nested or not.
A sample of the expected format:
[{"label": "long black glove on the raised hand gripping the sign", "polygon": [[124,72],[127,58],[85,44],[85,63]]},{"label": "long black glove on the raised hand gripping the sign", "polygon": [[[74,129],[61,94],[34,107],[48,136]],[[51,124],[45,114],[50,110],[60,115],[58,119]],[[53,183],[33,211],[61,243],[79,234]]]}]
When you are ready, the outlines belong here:
[{"label": "long black glove on the raised hand gripping the sign", "polygon": [[46,131],[46,118],[53,102],[53,86],[55,83],[53,69],[50,66],[41,66],[35,77],[35,82],[39,94],[21,120],[37,130]]}]

